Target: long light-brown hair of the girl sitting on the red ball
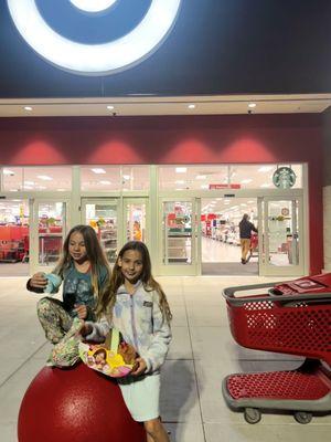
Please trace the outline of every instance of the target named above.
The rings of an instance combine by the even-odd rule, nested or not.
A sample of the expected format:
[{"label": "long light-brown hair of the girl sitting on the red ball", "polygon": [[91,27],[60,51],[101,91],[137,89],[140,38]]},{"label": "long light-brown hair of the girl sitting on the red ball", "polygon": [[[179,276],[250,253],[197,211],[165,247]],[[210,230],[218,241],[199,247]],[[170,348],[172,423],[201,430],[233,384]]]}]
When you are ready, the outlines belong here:
[{"label": "long light-brown hair of the girl sitting on the red ball", "polygon": [[60,257],[58,263],[56,264],[53,273],[56,273],[57,275],[63,277],[64,271],[71,266],[73,259],[68,252],[70,241],[71,241],[72,234],[77,233],[77,232],[81,233],[84,239],[87,260],[90,263],[92,287],[93,287],[95,297],[98,298],[98,296],[100,294],[100,287],[98,284],[99,267],[100,266],[106,267],[106,270],[108,271],[109,277],[110,277],[110,270],[109,270],[105,253],[104,253],[104,251],[100,246],[100,243],[98,241],[98,238],[96,235],[96,232],[90,225],[78,224],[71,229],[71,231],[66,235],[66,239],[64,240],[62,256]]}]

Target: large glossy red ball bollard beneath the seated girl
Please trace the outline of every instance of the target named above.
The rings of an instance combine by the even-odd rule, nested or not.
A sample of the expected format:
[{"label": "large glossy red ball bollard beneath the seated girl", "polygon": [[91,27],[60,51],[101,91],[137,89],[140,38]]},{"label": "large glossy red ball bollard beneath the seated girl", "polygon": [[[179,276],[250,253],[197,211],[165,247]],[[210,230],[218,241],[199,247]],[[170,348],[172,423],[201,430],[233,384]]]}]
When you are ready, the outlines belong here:
[{"label": "large glossy red ball bollard beneath the seated girl", "polygon": [[19,442],[146,442],[117,382],[79,364],[44,367],[29,386],[18,422]]}]

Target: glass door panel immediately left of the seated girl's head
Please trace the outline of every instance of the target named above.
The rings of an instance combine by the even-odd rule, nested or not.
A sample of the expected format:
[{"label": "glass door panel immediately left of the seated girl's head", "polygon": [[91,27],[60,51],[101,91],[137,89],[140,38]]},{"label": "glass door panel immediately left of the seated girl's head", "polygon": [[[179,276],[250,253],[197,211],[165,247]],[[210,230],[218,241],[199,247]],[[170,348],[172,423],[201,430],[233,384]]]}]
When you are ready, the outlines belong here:
[{"label": "glass door panel immediately left of the seated girl's head", "polygon": [[67,204],[60,200],[33,200],[29,252],[32,273],[50,272],[58,261],[67,233]]}]

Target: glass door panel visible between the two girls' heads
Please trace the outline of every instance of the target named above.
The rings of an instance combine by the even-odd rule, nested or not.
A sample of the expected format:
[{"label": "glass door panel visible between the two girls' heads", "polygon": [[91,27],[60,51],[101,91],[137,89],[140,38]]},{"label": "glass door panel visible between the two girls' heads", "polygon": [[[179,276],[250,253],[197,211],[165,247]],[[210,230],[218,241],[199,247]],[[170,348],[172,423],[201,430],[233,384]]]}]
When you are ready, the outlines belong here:
[{"label": "glass door panel visible between the two girls' heads", "polygon": [[83,199],[82,222],[94,228],[109,263],[118,249],[118,200]]}]

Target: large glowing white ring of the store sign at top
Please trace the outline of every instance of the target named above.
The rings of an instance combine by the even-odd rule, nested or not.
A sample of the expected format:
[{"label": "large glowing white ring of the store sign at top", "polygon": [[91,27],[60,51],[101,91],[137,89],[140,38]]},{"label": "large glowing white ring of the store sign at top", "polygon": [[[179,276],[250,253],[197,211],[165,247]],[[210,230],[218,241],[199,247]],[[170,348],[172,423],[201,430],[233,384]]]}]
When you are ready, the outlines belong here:
[{"label": "large glowing white ring of the store sign at top", "polygon": [[15,27],[34,51],[60,67],[88,75],[109,74],[142,61],[167,36],[181,3],[152,0],[141,22],[125,36],[103,44],[82,44],[53,31],[35,0],[7,1]]}]

